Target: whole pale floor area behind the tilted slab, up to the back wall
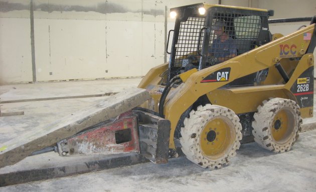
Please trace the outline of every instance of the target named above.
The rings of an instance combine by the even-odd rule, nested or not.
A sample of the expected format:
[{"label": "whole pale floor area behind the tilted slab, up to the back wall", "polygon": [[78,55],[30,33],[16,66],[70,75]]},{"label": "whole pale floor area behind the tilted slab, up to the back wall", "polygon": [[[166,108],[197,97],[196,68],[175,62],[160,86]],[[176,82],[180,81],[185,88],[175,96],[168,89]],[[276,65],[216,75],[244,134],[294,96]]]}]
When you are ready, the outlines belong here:
[{"label": "whole pale floor area behind the tilted slab, up to the back wall", "polygon": [[[35,84],[11,84],[0,86],[1,112],[24,111],[24,115],[0,117],[0,143],[34,130],[82,108],[94,105],[107,96],[70,98],[82,95],[97,95],[119,92],[137,87],[141,78],[105,79],[91,81],[46,82]],[[108,94],[107,94],[108,95]],[[34,99],[69,97],[67,99]],[[11,102],[29,100],[24,102]]]}]

